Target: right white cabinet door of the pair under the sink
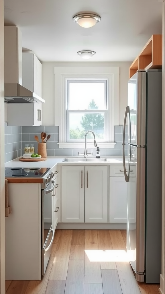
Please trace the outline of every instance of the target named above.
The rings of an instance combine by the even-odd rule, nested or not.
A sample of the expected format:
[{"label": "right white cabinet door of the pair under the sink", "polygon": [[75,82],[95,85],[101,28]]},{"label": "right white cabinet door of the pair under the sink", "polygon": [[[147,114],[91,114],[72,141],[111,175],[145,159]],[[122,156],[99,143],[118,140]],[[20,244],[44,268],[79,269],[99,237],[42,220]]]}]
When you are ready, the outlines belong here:
[{"label": "right white cabinet door of the pair under the sink", "polygon": [[85,166],[85,223],[107,223],[107,166]]}]

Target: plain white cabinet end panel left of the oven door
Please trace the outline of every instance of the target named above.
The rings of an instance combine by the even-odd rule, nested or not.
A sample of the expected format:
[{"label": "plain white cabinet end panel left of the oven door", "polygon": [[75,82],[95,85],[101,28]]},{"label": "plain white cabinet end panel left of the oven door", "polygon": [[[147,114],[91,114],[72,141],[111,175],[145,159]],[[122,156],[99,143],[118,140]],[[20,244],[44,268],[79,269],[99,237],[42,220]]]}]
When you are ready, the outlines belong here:
[{"label": "plain white cabinet end panel left of the oven door", "polygon": [[41,184],[9,183],[8,192],[6,280],[41,280]]}]

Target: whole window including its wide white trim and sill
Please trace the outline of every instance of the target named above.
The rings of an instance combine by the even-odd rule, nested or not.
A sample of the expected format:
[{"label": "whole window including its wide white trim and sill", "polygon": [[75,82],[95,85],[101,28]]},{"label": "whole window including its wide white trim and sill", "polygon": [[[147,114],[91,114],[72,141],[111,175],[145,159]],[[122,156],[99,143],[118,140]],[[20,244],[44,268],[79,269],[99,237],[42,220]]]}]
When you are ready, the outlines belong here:
[{"label": "whole window including its wide white trim and sill", "polygon": [[[119,125],[119,67],[55,66],[54,73],[59,148],[83,149],[87,131],[95,133],[100,148],[114,148],[114,126]],[[87,142],[92,148],[91,133]]]}]

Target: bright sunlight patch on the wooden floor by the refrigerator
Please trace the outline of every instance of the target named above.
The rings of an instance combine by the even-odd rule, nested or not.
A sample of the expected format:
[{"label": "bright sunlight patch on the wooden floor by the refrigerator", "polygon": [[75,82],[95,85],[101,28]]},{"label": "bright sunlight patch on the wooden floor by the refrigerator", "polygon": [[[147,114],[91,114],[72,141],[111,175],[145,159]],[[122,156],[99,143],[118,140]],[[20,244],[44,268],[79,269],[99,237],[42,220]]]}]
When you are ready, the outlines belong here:
[{"label": "bright sunlight patch on the wooden floor by the refrigerator", "polygon": [[91,262],[128,262],[136,260],[136,250],[130,250],[129,254],[125,250],[85,250],[85,253]]}]

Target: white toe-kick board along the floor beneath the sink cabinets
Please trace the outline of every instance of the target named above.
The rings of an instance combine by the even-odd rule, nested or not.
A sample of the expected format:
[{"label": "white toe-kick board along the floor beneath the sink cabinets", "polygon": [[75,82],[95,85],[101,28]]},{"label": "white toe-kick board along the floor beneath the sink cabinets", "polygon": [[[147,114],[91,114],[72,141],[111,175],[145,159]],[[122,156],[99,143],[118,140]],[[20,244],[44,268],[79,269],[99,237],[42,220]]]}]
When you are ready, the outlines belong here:
[{"label": "white toe-kick board along the floor beneath the sink cabinets", "polygon": [[126,230],[126,223],[58,223],[63,230]]}]

